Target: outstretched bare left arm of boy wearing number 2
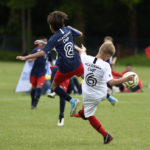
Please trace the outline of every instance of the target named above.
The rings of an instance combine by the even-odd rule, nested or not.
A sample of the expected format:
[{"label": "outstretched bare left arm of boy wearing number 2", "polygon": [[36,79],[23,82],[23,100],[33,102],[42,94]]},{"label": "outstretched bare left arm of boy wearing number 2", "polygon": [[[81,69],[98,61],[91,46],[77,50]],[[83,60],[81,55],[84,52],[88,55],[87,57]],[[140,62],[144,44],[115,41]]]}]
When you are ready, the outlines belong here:
[{"label": "outstretched bare left arm of boy wearing number 2", "polygon": [[35,58],[44,56],[45,54],[46,54],[45,51],[41,50],[40,52],[30,54],[27,56],[17,56],[16,59],[24,61],[24,60],[28,60],[28,59],[35,59]]}]

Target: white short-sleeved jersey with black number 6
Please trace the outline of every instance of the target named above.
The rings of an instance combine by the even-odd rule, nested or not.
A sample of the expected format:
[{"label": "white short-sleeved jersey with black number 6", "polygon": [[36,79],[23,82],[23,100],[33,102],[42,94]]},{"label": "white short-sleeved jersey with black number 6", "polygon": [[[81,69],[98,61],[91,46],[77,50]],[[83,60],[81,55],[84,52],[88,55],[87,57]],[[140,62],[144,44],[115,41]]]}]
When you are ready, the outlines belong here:
[{"label": "white short-sleeved jersey with black number 6", "polygon": [[113,79],[110,65],[100,58],[81,55],[84,65],[83,99],[103,99],[107,95],[107,82]]}]

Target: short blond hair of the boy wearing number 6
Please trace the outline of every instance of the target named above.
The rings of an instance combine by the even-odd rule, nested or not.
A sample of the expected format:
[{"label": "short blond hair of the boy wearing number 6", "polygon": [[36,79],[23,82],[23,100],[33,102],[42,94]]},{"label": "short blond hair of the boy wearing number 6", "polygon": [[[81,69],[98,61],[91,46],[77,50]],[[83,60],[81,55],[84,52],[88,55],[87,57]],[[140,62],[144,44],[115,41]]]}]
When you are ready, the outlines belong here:
[{"label": "short blond hair of the boy wearing number 6", "polygon": [[99,53],[102,55],[114,55],[115,54],[115,47],[112,42],[104,42],[101,47],[99,48]]}]

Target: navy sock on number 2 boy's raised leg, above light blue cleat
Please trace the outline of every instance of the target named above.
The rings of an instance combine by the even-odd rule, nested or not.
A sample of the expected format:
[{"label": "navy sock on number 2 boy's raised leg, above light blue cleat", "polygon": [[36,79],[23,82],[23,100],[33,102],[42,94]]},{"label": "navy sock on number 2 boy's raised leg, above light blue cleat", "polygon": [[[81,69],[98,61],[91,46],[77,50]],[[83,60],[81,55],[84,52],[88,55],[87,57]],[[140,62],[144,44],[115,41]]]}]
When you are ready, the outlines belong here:
[{"label": "navy sock on number 2 boy's raised leg, above light blue cleat", "polygon": [[58,94],[60,97],[62,97],[64,100],[70,101],[72,99],[71,96],[69,96],[68,93],[66,93],[62,88],[60,88],[59,86],[57,86],[55,88],[55,92],[56,94]]}]

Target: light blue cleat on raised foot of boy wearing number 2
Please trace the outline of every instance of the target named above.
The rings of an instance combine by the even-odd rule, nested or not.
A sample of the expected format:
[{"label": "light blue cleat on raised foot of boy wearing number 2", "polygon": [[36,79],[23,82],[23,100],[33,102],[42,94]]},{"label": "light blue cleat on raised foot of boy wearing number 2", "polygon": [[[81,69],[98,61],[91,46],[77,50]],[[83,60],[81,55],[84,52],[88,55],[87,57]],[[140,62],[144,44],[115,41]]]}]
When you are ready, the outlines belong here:
[{"label": "light blue cleat on raised foot of boy wearing number 2", "polygon": [[70,116],[73,117],[76,113],[76,109],[77,109],[78,105],[80,104],[80,101],[78,99],[72,98],[70,100],[70,104],[71,104]]}]

